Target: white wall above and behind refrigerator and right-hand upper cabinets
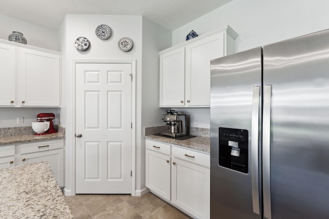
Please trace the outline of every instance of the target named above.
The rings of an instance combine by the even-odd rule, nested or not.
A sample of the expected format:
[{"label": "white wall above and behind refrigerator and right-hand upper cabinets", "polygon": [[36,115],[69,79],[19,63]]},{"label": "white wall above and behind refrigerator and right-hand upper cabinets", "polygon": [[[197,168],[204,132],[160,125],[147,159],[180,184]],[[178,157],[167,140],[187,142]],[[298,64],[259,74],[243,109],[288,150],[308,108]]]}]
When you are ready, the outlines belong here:
[{"label": "white wall above and behind refrigerator and right-hand upper cabinets", "polygon": [[[234,0],[174,30],[172,45],[184,42],[192,29],[201,35],[229,25],[239,34],[235,51],[240,52],[327,29],[328,8],[326,0]],[[209,108],[181,111],[190,114],[191,126],[210,127]],[[193,124],[194,118],[200,121],[198,125]]]}]

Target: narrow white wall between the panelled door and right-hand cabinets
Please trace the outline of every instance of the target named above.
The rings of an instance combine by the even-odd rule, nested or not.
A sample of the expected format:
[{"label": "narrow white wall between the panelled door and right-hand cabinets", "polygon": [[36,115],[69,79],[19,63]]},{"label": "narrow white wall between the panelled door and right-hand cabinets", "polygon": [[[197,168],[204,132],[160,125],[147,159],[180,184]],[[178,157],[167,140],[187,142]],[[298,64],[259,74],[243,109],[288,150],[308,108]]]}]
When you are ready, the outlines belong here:
[{"label": "narrow white wall between the panelled door and right-hand cabinets", "polygon": [[[171,31],[158,26],[143,17],[142,24],[142,99],[140,120],[142,135],[137,137],[136,177],[138,188],[145,188],[145,127],[163,125],[160,115],[164,113],[159,108],[159,51],[171,46]],[[138,114],[137,114],[138,115]],[[139,160],[140,157],[140,160]]]}]

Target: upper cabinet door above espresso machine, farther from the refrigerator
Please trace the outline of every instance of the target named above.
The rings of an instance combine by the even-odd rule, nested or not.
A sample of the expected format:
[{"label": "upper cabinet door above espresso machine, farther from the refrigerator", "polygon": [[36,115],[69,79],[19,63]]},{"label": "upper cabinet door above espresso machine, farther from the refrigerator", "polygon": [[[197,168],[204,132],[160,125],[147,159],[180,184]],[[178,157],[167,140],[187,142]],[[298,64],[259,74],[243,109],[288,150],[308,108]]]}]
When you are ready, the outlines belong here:
[{"label": "upper cabinet door above espresso machine, farther from the refrigerator", "polygon": [[160,107],[185,104],[185,49],[160,54]]}]

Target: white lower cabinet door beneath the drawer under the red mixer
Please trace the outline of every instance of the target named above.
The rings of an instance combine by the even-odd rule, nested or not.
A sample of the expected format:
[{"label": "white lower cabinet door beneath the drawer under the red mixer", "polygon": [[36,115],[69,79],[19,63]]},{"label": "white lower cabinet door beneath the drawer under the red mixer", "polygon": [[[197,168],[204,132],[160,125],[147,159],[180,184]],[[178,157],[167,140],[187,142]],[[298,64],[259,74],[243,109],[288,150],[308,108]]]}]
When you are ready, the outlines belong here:
[{"label": "white lower cabinet door beneath the drawer under the red mixer", "polygon": [[22,164],[31,164],[36,162],[47,161],[58,182],[58,185],[64,186],[63,149],[24,154],[21,155],[21,159]]}]

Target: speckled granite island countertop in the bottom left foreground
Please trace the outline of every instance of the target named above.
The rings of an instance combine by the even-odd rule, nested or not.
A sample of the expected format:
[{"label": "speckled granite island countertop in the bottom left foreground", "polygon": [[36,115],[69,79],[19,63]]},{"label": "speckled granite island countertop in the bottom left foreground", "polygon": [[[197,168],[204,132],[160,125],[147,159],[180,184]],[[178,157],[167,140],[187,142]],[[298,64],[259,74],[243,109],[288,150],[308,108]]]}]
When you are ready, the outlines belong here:
[{"label": "speckled granite island countertop in the bottom left foreground", "polygon": [[48,162],[0,170],[0,218],[74,218]]}]

